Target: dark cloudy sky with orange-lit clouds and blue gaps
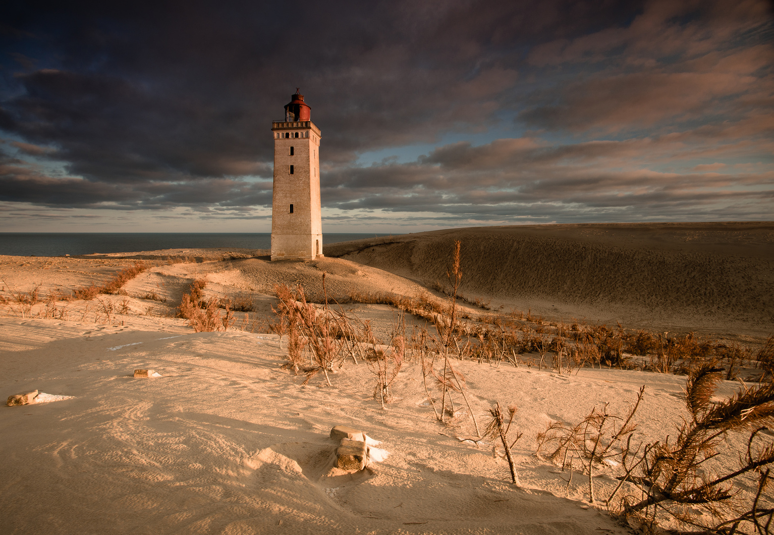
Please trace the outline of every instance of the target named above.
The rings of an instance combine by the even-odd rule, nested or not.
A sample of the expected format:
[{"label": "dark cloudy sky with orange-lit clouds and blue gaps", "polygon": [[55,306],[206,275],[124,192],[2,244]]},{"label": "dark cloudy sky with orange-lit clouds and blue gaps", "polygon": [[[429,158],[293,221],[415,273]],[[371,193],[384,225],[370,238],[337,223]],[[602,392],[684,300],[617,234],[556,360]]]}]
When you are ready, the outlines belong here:
[{"label": "dark cloudy sky with orange-lit clouds and blue gaps", "polygon": [[272,119],[327,232],[774,221],[761,0],[3,2],[0,231],[268,232]]}]

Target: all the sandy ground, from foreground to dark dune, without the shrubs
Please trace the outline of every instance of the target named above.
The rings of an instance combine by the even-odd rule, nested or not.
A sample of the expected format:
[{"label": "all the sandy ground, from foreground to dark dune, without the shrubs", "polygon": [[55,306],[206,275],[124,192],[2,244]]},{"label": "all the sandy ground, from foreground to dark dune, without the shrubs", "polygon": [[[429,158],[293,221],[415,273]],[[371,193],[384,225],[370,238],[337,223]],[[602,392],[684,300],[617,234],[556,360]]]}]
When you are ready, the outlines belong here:
[{"label": "all the sandy ground, from foreground to dark dune, without the shrubs", "polygon": [[[0,256],[2,393],[73,396],[2,407],[0,533],[635,532],[617,513],[620,499],[639,499],[639,489],[625,482],[605,501],[622,466],[594,465],[591,502],[588,475],[572,459],[563,465],[539,451],[538,435],[591,410],[624,415],[645,386],[632,443],[674,436],[690,419],[687,376],[646,371],[648,355],[570,371],[555,365],[556,352],[547,365],[529,350],[454,359],[465,397],[454,393],[444,423],[416,352],[406,352],[384,407],[374,365],[363,359],[335,362],[330,386],[322,374],[303,385],[303,373],[286,366],[287,336],[269,332],[277,284],[301,285],[318,302],[335,298],[343,314],[370,322],[374,347],[387,351],[400,311],[352,295],[447,305],[438,290],[454,240],[462,242],[460,291],[468,299],[457,310],[471,333],[495,329],[497,314],[549,338],[572,321],[581,330],[584,322],[620,321],[654,333],[694,331],[749,348],[738,363],[744,381],[718,382],[713,403],[759,384],[762,370],[750,355],[774,324],[772,224],[457,229],[330,245],[325,258],[297,262],[269,262],[267,251],[248,249]],[[138,261],[146,269],[120,291],[69,297]],[[194,331],[175,316],[196,280],[207,281],[203,299],[249,302],[250,310],[235,311],[225,330]],[[515,320],[515,310],[542,317]],[[405,321],[404,333],[437,335],[426,317]],[[159,377],[135,379],[135,369]],[[438,403],[439,390],[431,386],[430,397]],[[502,445],[478,437],[471,418],[484,427],[497,403],[518,407],[517,485]],[[359,472],[334,468],[336,425],[382,441],[389,457]],[[760,437],[764,444],[772,434]],[[707,473],[738,468],[747,440],[729,433]],[[739,499],[754,496],[757,477],[735,479]],[[772,506],[770,490],[761,504]]]}]

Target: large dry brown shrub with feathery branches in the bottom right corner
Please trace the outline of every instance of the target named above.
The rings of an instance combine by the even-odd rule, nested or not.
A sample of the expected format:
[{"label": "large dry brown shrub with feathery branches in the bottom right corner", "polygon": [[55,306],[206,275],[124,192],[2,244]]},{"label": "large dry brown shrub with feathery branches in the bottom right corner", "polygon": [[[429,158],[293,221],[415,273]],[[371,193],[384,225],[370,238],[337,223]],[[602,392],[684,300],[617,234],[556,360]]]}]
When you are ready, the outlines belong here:
[{"label": "large dry brown shrub with feathery branches in the bottom right corner", "polygon": [[[763,472],[762,468],[774,463],[774,443],[757,450],[753,444],[765,429],[759,426],[774,422],[774,385],[746,389],[721,403],[712,403],[721,371],[710,365],[694,370],[686,384],[685,401],[690,419],[685,420],[672,441],[666,437],[648,444],[645,453],[632,465],[624,462],[626,475],[622,481],[634,483],[645,496],[639,500],[633,496],[622,499],[626,516],[633,516],[651,528],[660,515],[683,525],[700,526],[708,533],[721,533],[723,526],[733,526],[736,531],[743,525],[751,526],[760,535],[769,533],[774,509],[762,508],[760,497],[769,478],[769,469]],[[717,447],[727,434],[751,429],[747,452],[744,457],[740,456],[739,468],[724,474],[709,472],[704,463],[717,455]],[[640,477],[632,476],[636,466],[642,467]],[[745,503],[731,483],[753,471],[765,475],[759,478],[755,499]],[[714,526],[700,523],[700,511],[720,520],[728,510],[746,513]],[[766,518],[768,521],[762,523],[760,519]],[[745,532],[740,528],[740,533]]]}]

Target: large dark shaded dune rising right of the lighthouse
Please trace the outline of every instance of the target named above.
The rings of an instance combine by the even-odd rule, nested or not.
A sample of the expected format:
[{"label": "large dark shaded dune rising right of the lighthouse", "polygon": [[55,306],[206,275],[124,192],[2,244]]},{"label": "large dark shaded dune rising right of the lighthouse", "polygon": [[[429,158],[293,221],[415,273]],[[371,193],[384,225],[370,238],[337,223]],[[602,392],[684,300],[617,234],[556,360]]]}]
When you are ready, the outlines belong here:
[{"label": "large dark shaded dune rising right of the lighthouse", "polygon": [[457,228],[327,245],[324,253],[446,283],[461,240],[461,293],[504,310],[657,331],[774,331],[774,223]]}]

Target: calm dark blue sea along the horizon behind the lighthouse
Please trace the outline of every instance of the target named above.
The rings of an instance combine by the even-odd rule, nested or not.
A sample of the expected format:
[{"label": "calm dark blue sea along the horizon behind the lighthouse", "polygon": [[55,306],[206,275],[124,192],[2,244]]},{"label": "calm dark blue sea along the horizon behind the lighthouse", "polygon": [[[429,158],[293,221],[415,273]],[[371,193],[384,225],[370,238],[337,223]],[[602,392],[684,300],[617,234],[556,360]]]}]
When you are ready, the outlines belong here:
[{"label": "calm dark blue sea along the horizon behind the lighthouse", "polygon": [[[350,242],[387,234],[323,235],[324,243]],[[0,232],[0,255],[60,256],[95,252],[156,251],[158,249],[270,249],[272,235],[258,233],[162,232]]]}]

